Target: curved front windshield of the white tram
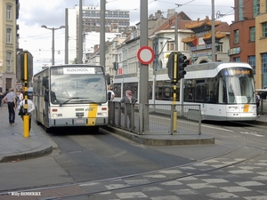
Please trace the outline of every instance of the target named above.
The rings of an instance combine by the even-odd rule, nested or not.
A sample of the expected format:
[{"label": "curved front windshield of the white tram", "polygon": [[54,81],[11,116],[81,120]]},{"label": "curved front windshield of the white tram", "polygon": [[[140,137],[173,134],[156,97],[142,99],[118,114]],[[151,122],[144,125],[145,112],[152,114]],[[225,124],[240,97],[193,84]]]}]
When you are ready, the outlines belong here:
[{"label": "curved front windshield of the white tram", "polygon": [[229,104],[255,103],[253,71],[249,68],[223,69],[225,94]]}]

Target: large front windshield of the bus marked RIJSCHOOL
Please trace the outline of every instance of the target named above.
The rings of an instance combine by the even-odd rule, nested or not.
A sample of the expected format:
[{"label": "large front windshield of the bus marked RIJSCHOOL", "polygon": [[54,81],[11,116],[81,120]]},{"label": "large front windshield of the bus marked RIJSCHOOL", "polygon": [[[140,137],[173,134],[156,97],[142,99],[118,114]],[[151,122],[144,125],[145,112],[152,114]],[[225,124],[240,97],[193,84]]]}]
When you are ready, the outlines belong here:
[{"label": "large front windshield of the bus marked RIJSCHOOL", "polygon": [[65,73],[51,69],[51,102],[53,104],[103,103],[107,101],[106,79],[101,74]]}]

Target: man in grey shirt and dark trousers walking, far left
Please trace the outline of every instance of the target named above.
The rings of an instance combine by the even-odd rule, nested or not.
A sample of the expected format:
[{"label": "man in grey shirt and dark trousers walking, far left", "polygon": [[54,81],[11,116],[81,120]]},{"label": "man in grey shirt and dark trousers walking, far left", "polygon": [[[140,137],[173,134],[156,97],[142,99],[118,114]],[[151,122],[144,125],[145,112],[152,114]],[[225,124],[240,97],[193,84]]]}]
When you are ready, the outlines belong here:
[{"label": "man in grey shirt and dark trousers walking, far left", "polygon": [[17,108],[16,97],[17,95],[13,88],[11,88],[10,92],[8,92],[4,97],[4,102],[7,103],[8,108],[9,124],[11,125],[15,124],[15,108]]}]

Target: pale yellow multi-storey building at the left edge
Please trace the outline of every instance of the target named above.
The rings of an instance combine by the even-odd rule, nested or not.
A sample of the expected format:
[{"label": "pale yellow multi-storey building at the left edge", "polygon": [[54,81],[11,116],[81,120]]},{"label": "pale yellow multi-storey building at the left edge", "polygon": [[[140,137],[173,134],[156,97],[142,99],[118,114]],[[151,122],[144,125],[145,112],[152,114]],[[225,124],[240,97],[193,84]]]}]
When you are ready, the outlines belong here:
[{"label": "pale yellow multi-storey building at the left edge", "polygon": [[16,86],[19,0],[0,1],[0,92]]}]

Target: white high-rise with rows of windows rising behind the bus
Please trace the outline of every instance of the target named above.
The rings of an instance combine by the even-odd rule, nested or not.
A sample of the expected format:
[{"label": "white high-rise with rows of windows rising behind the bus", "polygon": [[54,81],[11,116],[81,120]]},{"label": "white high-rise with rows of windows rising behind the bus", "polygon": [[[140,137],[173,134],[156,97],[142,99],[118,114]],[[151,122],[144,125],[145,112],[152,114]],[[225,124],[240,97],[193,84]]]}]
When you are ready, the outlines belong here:
[{"label": "white high-rise with rows of windows rising behind the bus", "polygon": [[[129,11],[110,11],[105,14],[106,33],[122,33],[130,27]],[[69,62],[78,56],[78,29],[79,29],[79,6],[68,9],[68,30],[69,30]],[[101,28],[101,9],[98,6],[83,6],[83,41],[85,34],[89,32],[100,32]],[[94,38],[92,38],[92,41]],[[96,40],[97,41],[97,40]],[[85,49],[84,49],[85,52]],[[84,53],[85,54],[85,53]]]}]

